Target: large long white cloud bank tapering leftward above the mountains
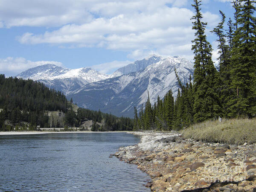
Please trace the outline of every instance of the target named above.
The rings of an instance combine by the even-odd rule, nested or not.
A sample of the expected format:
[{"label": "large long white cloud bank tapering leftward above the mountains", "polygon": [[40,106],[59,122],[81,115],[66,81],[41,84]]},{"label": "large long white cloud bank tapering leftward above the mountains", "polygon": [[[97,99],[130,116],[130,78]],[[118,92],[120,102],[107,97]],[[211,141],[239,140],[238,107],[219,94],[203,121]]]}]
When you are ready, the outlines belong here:
[{"label": "large long white cloud bank tapering leftward above the mountains", "polygon": [[[186,46],[194,37],[190,20],[192,15],[189,9],[163,6],[154,12],[127,13],[109,18],[99,17],[84,24],[68,24],[44,34],[27,32],[18,40],[22,44],[48,43],[65,47],[123,50],[131,52],[128,57],[134,59],[152,51],[168,55],[168,47],[172,47],[169,55],[180,55],[175,47]],[[208,16],[216,18],[207,13]],[[138,51],[143,54],[137,54]],[[191,54],[191,50],[187,49],[183,55]]]}]

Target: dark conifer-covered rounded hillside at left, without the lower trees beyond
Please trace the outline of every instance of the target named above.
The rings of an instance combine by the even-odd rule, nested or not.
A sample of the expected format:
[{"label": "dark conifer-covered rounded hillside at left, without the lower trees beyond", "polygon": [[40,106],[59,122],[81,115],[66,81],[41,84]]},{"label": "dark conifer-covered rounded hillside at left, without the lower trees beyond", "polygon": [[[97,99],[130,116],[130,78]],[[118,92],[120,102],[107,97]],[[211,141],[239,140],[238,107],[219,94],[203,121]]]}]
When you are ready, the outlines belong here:
[{"label": "dark conifer-covered rounded hillside at left, without the lower trees beyond", "polygon": [[40,82],[0,74],[0,131],[12,131],[14,125],[24,128],[24,122],[29,122],[30,129],[48,127],[48,111],[65,113],[67,108],[67,99],[60,91]]}]

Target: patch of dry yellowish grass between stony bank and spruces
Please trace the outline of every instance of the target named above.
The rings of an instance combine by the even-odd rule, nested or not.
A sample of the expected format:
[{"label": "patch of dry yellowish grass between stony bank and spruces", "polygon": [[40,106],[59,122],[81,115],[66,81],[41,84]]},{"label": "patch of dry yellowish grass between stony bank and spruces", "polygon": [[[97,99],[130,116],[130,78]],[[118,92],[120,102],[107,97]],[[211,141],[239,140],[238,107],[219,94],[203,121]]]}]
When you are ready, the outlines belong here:
[{"label": "patch of dry yellowish grass between stony bank and spruces", "polygon": [[205,121],[181,131],[185,138],[205,142],[238,144],[256,143],[256,118]]}]

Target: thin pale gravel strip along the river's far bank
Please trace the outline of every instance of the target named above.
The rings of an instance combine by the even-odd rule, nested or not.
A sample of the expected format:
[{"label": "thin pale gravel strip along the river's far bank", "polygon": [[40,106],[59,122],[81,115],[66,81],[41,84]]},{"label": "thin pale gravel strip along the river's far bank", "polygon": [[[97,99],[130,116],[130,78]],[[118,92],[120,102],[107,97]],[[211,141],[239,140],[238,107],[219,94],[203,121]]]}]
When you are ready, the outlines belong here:
[{"label": "thin pale gravel strip along the river's far bank", "polygon": [[60,133],[131,133],[132,131],[0,131],[1,135],[32,135]]}]

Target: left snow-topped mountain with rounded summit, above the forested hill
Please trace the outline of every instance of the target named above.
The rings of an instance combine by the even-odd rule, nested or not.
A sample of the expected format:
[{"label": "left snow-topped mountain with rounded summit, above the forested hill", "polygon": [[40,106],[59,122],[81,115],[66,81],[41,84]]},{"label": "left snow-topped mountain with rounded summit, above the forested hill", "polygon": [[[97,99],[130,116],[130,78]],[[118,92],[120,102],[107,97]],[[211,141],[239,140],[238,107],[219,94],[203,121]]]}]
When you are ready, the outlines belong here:
[{"label": "left snow-topped mountain with rounded summit, above the forested hill", "polygon": [[16,77],[40,81],[47,87],[68,95],[85,84],[108,79],[110,76],[92,68],[66,69],[54,64],[45,64],[26,70]]}]

